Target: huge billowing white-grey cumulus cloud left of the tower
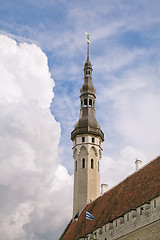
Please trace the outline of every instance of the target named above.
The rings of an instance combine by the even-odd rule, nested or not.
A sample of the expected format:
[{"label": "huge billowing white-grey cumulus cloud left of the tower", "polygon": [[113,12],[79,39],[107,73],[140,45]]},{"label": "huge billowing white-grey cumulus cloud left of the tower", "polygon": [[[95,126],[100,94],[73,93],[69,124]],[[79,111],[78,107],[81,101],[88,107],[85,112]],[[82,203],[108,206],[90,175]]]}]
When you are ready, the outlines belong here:
[{"label": "huge billowing white-grey cumulus cloud left of the tower", "polygon": [[57,239],[71,212],[72,177],[58,158],[47,57],[4,35],[0,52],[0,239]]}]

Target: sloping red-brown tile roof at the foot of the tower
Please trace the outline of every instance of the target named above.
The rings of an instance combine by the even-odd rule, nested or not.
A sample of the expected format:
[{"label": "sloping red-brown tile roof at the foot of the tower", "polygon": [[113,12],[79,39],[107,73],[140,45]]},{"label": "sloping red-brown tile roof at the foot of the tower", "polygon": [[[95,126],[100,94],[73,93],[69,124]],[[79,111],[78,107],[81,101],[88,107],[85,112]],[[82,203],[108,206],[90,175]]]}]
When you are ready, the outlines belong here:
[{"label": "sloping red-brown tile roof at the foot of the tower", "polygon": [[[124,213],[149,202],[160,195],[160,157],[127,177],[103,196],[88,204],[94,220],[86,221],[86,233],[122,216]],[[63,240],[75,240],[85,234],[85,210],[77,222],[72,222],[62,236]]]}]

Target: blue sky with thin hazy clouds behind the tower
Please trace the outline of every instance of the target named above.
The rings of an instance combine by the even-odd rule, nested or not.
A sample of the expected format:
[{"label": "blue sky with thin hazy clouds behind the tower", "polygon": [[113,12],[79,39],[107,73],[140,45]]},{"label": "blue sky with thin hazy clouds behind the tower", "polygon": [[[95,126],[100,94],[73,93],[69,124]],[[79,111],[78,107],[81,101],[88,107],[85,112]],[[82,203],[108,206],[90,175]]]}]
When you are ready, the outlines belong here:
[{"label": "blue sky with thin hazy clouds behind the tower", "polygon": [[[61,126],[61,133],[57,130],[61,137],[56,161],[68,171],[68,181],[73,177],[70,133],[79,117],[85,32],[91,38],[96,116],[105,134],[101,181],[113,186],[134,171],[136,158],[145,164],[159,155],[159,12],[158,0],[0,0],[0,34],[16,40],[19,46],[35,43],[47,56],[45,64],[55,82],[54,98],[48,99],[53,121],[55,118]],[[32,54],[30,50],[29,53]],[[37,76],[41,78],[41,74]],[[35,98],[41,101],[45,84],[30,76],[29,87],[33,81],[39,92],[38,96],[34,91]],[[46,91],[50,92],[48,89],[49,86]],[[69,213],[61,230],[68,219]]]}]

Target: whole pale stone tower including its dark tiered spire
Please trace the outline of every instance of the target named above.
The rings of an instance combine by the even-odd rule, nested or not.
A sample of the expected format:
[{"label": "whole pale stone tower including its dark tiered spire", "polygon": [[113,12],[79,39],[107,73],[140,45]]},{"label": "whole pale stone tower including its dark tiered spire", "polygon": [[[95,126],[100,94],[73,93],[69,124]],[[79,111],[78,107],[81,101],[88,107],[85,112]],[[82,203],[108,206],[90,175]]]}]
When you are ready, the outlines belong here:
[{"label": "whole pale stone tower including its dark tiered spire", "polygon": [[100,195],[100,159],[104,134],[95,118],[95,88],[92,83],[92,64],[84,64],[84,83],[80,95],[80,117],[71,133],[74,158],[73,216]]}]

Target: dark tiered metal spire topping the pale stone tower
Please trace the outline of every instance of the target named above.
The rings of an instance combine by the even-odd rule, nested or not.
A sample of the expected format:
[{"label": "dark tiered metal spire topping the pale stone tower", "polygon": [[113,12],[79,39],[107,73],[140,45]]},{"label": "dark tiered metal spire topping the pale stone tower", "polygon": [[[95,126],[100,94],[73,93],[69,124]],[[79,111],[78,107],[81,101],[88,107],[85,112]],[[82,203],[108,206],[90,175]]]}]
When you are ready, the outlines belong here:
[{"label": "dark tiered metal spire topping the pale stone tower", "polygon": [[92,83],[92,64],[89,59],[89,34],[87,34],[87,60],[84,64],[84,83],[80,89],[80,117],[71,133],[73,140],[78,134],[92,134],[99,136],[104,141],[104,134],[95,117],[95,88]]}]

